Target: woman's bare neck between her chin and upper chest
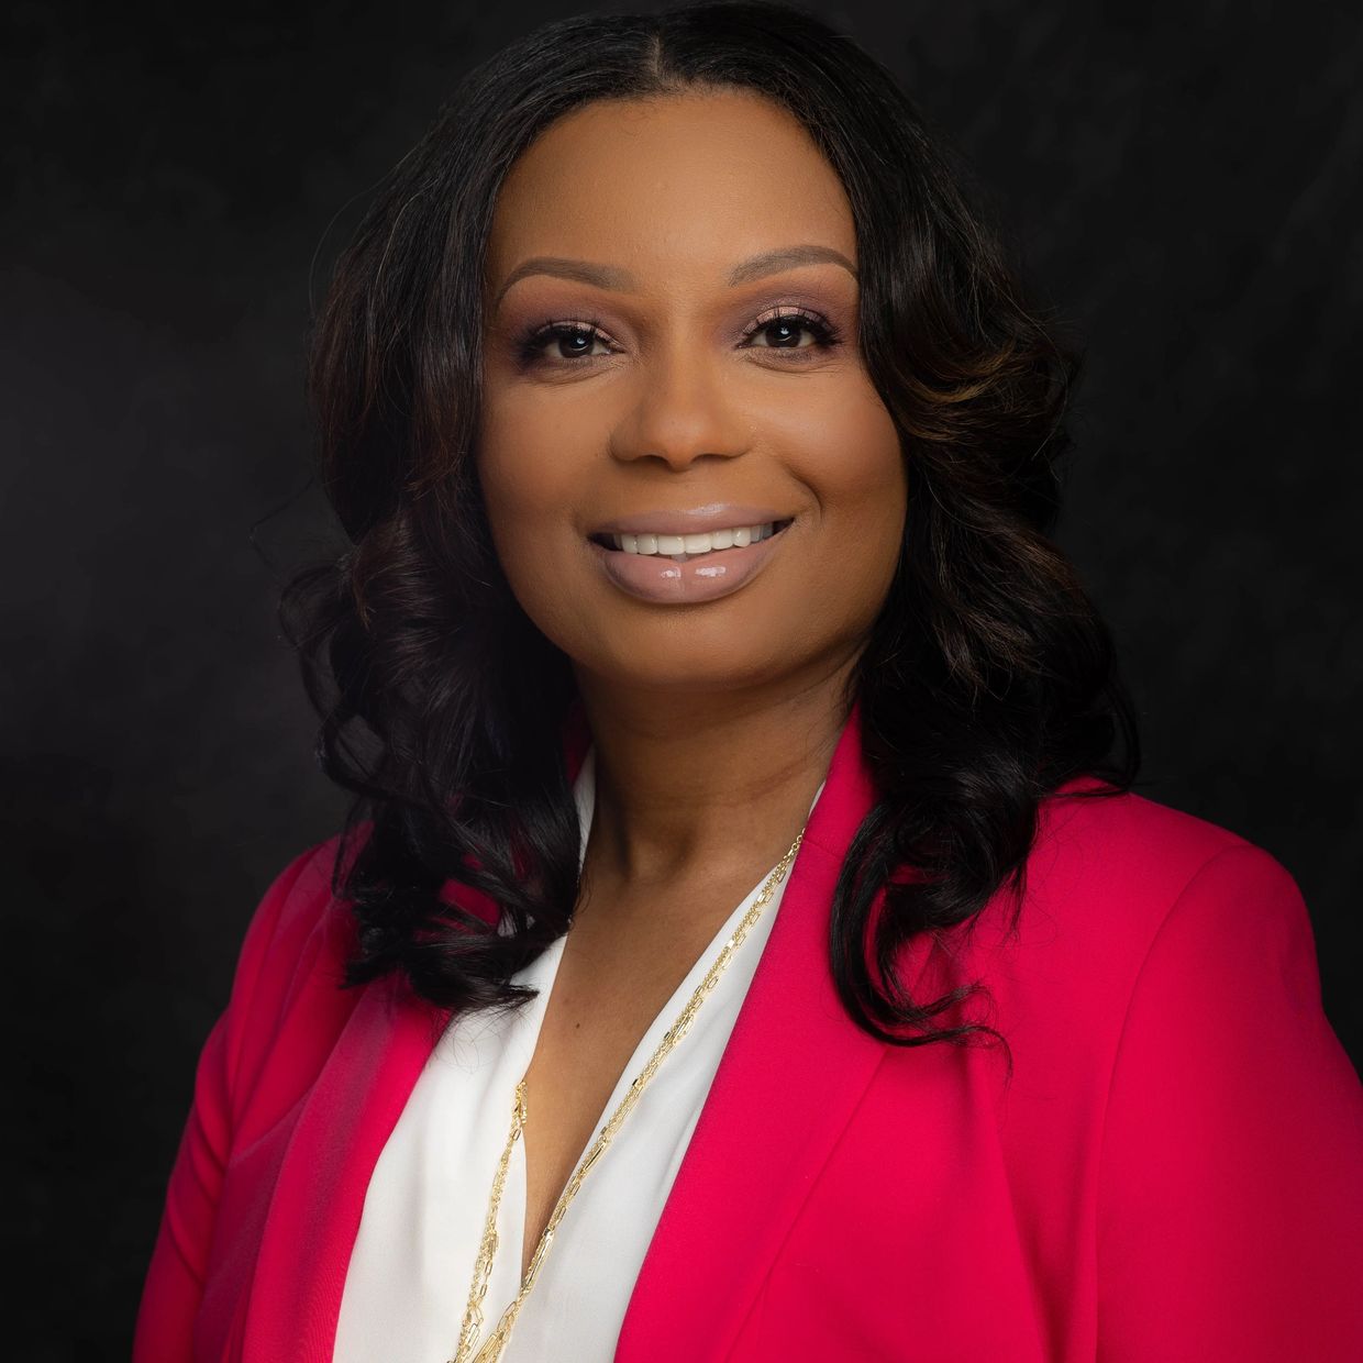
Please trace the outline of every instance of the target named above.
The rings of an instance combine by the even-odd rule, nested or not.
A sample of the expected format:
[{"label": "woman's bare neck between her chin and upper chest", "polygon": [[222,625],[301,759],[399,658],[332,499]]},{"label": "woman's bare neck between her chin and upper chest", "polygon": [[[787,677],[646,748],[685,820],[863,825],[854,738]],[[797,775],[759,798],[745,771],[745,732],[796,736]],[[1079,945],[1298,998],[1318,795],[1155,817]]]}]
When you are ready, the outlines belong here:
[{"label": "woman's bare neck between her chin and upper chest", "polygon": [[774,866],[827,774],[853,661],[761,695],[660,695],[579,671],[596,754],[592,879],[679,891]]}]

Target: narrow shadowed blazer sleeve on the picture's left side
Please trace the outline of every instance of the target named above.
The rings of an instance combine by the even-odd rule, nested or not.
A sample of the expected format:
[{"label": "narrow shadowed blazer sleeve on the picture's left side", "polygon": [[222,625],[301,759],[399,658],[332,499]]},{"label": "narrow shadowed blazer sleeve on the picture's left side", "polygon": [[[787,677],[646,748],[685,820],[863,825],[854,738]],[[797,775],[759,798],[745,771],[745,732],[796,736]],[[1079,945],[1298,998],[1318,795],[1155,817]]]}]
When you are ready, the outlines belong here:
[{"label": "narrow shadowed blazer sleeve on the picture's left side", "polygon": [[194,1321],[232,1146],[232,1089],[244,1025],[284,906],[319,846],[294,857],[256,906],[237,958],[228,1006],[199,1055],[194,1101],[170,1169],[161,1227],[142,1289],[134,1363],[191,1363],[194,1358]]}]

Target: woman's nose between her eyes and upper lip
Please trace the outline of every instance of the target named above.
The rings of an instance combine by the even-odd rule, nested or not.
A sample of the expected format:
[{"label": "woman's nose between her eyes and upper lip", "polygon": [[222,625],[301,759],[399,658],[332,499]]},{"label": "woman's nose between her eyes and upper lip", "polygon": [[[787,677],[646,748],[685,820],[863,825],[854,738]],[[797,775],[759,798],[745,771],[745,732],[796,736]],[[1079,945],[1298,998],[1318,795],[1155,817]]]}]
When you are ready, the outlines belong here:
[{"label": "woman's nose between her eyes and upper lip", "polygon": [[683,472],[696,459],[732,459],[748,446],[739,384],[690,349],[669,349],[639,369],[639,394],[612,436],[617,459],[661,459]]}]

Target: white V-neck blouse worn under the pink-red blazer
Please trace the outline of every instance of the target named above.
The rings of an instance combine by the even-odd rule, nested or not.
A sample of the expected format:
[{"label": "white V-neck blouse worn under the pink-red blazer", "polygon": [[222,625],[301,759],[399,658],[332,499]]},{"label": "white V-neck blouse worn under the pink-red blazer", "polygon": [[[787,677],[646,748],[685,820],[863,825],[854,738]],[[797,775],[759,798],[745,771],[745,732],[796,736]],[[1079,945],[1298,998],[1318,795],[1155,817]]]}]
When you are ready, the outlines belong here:
[{"label": "white V-neck blouse worn under the pink-red blazer", "polygon": [[[823,784],[810,804],[812,812]],[[596,808],[596,748],[574,784],[586,857]],[[729,915],[643,1035],[590,1139],[714,964],[758,897],[769,868]],[[710,1090],[786,874],[721,972],[687,1033],[668,1052],[611,1145],[583,1179],[521,1306],[503,1363],[611,1363],[643,1254]],[[566,936],[514,980],[538,995],[518,1013],[455,1014],[432,1051],[375,1165],[350,1255],[334,1363],[447,1363],[459,1340],[488,1198],[511,1124],[511,1103],[534,1055]],[[534,1120],[533,1109],[527,1120]],[[589,1141],[590,1144],[590,1141]],[[583,1154],[586,1150],[583,1150]],[[484,1343],[521,1288],[525,1141],[517,1141],[497,1209],[499,1246],[483,1299]]]}]

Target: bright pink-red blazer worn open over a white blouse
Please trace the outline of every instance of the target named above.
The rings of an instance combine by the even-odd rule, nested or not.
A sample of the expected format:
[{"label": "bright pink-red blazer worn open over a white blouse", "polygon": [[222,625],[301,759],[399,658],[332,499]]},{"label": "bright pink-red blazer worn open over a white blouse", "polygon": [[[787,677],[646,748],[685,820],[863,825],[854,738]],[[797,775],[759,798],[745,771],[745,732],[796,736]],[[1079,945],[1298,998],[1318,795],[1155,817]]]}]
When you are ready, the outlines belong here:
[{"label": "bright pink-red blazer worn open over a white blouse", "polygon": [[[1363,1088],[1287,871],[1139,796],[1047,801],[1018,934],[996,898],[904,961],[917,999],[985,983],[1005,1086],[999,1052],[887,1045],[838,1002],[829,904],[872,801],[853,710],[619,1363],[1363,1359]],[[337,988],[334,852],[247,932],[135,1363],[331,1359],[371,1171],[448,1021],[391,977]]]}]

